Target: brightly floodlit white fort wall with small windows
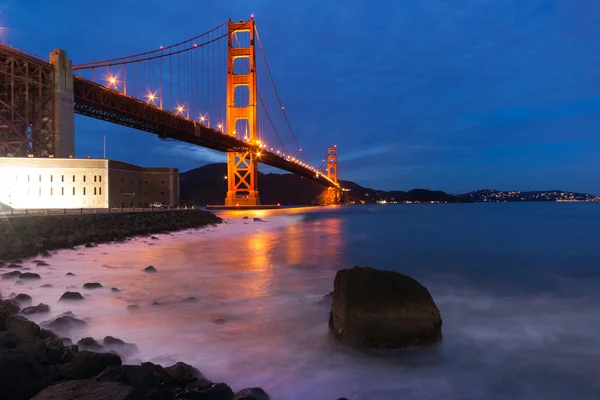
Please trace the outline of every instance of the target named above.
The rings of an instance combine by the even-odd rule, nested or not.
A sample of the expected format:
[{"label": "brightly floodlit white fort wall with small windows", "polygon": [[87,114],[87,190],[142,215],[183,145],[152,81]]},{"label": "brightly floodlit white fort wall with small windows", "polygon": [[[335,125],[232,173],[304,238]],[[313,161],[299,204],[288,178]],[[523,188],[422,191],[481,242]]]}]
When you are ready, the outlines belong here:
[{"label": "brightly floodlit white fort wall with small windows", "polygon": [[0,202],[13,208],[105,208],[106,160],[0,158]]}]

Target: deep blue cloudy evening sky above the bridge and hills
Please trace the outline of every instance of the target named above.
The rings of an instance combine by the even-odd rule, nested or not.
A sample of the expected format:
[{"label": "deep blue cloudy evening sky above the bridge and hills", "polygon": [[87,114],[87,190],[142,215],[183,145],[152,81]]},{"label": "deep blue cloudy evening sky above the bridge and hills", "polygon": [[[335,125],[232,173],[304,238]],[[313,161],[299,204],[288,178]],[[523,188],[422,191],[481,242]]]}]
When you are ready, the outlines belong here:
[{"label": "deep blue cloudy evening sky above the bridge and hills", "polygon": [[[600,194],[597,1],[0,0],[0,35],[82,63],[251,13],[313,164],[337,144],[341,177],[367,187]],[[123,161],[187,170],[225,160],[81,117],[77,155],[102,156],[104,134]]]}]

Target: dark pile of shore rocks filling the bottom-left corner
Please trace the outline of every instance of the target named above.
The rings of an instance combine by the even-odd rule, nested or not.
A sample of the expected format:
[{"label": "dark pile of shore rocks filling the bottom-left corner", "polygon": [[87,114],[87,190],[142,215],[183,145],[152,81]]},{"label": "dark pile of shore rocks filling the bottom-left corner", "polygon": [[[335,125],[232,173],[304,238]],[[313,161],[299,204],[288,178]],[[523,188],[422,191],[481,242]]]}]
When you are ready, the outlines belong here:
[{"label": "dark pile of shore rocks filling the bottom-left corner", "polygon": [[[117,354],[66,346],[63,342],[70,340],[17,315],[19,306],[13,300],[0,300],[0,311],[3,400],[269,400],[260,388],[234,393],[182,362],[166,368],[150,362],[123,365]],[[110,336],[103,342],[109,347],[134,346]]]}]

